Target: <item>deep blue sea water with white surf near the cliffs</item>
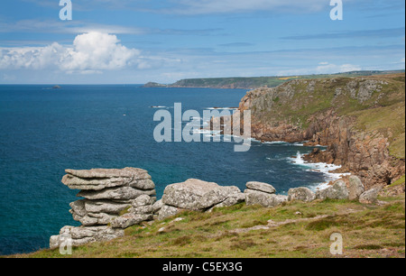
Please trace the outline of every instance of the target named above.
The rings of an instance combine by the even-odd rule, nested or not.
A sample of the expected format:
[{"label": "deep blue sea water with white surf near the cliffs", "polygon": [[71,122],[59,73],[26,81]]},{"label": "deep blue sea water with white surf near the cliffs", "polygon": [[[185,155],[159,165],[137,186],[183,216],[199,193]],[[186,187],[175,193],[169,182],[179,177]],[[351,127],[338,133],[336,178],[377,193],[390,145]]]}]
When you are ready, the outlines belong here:
[{"label": "deep blue sea water with white surf near the cliffs", "polygon": [[[69,203],[78,191],[64,186],[65,169],[149,170],[158,198],[171,184],[190,178],[245,189],[250,180],[277,192],[328,181],[326,166],[303,163],[302,144],[253,142],[156,143],[157,108],[202,112],[238,106],[245,90],[143,88],[141,86],[0,86],[0,254],[29,253],[49,246],[64,225],[78,225]],[[299,153],[299,155],[298,155]],[[331,169],[331,168],[328,168]],[[324,172],[323,172],[324,171]]]}]

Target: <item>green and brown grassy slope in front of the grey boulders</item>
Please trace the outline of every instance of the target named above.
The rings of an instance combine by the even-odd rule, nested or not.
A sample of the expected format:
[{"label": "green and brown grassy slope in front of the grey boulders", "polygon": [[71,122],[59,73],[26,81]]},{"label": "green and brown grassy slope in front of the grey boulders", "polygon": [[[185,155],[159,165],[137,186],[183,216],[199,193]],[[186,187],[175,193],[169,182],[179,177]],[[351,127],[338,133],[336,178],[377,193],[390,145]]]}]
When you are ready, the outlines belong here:
[{"label": "green and brown grassy slope in front of the grey boulders", "polygon": [[[333,257],[329,253],[333,233],[343,235],[344,257],[404,257],[404,195],[381,199],[388,204],[376,207],[326,200],[275,208],[240,204],[213,213],[185,212],[175,216],[184,218],[182,221],[174,222],[171,217],[133,226],[122,238],[74,248],[71,256],[43,250],[15,257]],[[293,220],[250,231],[250,227],[267,225],[270,219],[275,223]],[[158,232],[161,227],[164,231]]]}]

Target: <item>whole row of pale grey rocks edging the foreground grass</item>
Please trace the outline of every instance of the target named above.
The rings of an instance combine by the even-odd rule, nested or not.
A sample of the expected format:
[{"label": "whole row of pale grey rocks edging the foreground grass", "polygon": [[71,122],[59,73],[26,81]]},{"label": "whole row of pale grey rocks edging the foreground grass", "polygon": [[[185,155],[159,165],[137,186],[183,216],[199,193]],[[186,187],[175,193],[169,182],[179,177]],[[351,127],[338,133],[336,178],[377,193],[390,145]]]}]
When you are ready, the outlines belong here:
[{"label": "whole row of pale grey rocks edging the foreground grass", "polygon": [[69,213],[80,226],[66,225],[59,235],[50,238],[55,249],[69,240],[72,246],[106,242],[125,235],[134,225],[164,220],[183,211],[211,212],[216,207],[232,207],[242,202],[247,206],[278,207],[286,202],[317,199],[351,199],[367,204],[379,203],[380,189],[365,191],[361,179],[351,176],[347,187],[337,181],[328,189],[316,193],[308,188],[290,189],[288,196],[276,194],[271,184],[251,181],[242,192],[235,186],[219,186],[214,182],[188,179],[168,185],[160,200],[155,197],[155,185],[146,170],[125,168],[66,170],[62,183],[69,189],[80,189]]}]

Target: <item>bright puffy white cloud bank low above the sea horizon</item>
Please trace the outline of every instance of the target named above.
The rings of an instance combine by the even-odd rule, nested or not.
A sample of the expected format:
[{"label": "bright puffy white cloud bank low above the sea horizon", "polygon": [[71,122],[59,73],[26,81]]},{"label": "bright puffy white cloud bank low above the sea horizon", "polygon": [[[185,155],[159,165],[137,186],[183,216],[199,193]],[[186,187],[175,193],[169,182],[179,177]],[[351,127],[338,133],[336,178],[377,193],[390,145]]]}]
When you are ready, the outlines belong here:
[{"label": "bright puffy white cloud bank low above the sea horizon", "polygon": [[0,48],[0,69],[99,72],[136,67],[140,55],[140,51],[120,44],[115,35],[88,32],[79,34],[71,46],[54,42],[45,47]]}]

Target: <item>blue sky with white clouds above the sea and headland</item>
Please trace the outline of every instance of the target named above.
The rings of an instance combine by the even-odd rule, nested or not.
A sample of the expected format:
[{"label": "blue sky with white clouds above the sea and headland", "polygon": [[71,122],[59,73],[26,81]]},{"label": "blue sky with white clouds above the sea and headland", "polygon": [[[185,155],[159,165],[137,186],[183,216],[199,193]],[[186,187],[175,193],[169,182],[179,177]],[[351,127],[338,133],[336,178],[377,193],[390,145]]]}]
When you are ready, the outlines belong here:
[{"label": "blue sky with white clouds above the sea and headland", "polygon": [[403,0],[0,4],[0,84],[115,84],[405,68]]}]

